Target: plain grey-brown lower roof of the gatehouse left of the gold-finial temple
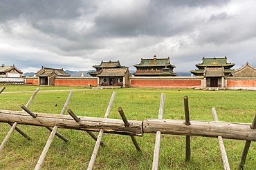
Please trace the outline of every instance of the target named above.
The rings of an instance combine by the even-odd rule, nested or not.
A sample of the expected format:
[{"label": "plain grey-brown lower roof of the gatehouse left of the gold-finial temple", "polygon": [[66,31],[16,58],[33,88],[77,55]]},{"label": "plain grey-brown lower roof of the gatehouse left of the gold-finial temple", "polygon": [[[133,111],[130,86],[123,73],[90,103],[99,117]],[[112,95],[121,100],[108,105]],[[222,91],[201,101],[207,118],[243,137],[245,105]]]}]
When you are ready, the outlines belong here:
[{"label": "plain grey-brown lower roof of the gatehouse left of the gold-finial temple", "polygon": [[97,76],[125,76],[127,72],[129,72],[128,68],[103,68]]}]

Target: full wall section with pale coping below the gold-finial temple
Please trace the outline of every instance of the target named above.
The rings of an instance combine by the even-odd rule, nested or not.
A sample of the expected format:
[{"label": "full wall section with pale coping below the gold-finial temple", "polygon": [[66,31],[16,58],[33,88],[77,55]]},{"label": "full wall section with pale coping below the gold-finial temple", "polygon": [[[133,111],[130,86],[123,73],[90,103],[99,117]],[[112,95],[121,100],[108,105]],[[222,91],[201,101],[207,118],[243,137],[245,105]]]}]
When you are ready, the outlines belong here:
[{"label": "full wall section with pale coping below the gold-finial temple", "polygon": [[201,88],[203,76],[134,76],[129,78],[131,87]]}]

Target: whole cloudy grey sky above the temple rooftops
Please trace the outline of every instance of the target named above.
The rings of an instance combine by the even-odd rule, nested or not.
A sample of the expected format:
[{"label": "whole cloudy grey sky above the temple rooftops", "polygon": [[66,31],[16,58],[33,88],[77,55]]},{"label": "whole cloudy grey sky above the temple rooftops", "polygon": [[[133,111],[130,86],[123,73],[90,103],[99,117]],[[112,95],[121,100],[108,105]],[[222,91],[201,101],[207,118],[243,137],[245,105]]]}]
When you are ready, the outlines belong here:
[{"label": "whole cloudy grey sky above the temple rooftops", "polygon": [[0,65],[94,70],[170,57],[174,72],[205,57],[256,67],[255,0],[0,0]]}]

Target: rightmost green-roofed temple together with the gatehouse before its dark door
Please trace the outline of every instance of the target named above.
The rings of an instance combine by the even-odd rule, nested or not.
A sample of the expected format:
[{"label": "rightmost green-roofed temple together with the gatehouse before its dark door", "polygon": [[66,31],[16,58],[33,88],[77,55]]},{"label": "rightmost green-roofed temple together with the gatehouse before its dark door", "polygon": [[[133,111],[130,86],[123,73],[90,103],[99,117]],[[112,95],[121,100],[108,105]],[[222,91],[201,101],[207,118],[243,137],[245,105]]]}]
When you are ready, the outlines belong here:
[{"label": "rightmost green-roofed temple together with the gatehouse before its dark door", "polygon": [[190,71],[195,76],[203,76],[205,78],[205,87],[224,87],[224,77],[230,76],[231,67],[235,63],[228,63],[227,57],[223,58],[204,58],[202,63],[196,64],[198,70]]}]

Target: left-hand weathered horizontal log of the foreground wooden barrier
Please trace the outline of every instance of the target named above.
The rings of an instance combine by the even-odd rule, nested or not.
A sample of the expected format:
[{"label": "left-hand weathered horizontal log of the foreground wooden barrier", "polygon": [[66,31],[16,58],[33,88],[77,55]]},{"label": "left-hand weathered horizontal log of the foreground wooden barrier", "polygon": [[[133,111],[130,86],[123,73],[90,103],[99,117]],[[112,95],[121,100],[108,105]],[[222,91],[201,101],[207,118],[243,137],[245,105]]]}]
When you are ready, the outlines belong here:
[{"label": "left-hand weathered horizontal log of the foreground wooden barrier", "polygon": [[129,127],[125,127],[122,120],[111,118],[93,118],[85,116],[77,116],[80,122],[76,123],[69,115],[60,114],[43,114],[36,113],[37,118],[33,118],[23,111],[11,111],[0,109],[0,122],[15,123],[22,125],[35,125],[44,127],[54,127],[64,129],[77,129],[83,131],[100,131],[104,133],[143,136],[143,121],[129,120]]}]

